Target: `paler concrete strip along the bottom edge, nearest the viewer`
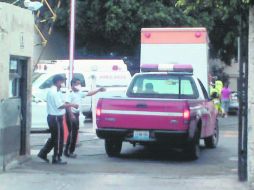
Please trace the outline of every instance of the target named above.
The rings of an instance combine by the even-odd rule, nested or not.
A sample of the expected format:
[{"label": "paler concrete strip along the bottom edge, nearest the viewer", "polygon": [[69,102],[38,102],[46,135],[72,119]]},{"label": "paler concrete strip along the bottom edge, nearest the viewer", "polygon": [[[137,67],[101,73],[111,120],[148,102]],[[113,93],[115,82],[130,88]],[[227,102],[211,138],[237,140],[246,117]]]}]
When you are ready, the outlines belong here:
[{"label": "paler concrete strip along the bottom edge, nearest the viewer", "polygon": [[[21,173],[22,172],[22,173]],[[160,178],[129,174],[55,174],[8,172],[0,175],[1,190],[247,190],[232,176],[199,178]],[[135,182],[135,183],[133,183]],[[152,184],[152,185],[151,185]]]}]

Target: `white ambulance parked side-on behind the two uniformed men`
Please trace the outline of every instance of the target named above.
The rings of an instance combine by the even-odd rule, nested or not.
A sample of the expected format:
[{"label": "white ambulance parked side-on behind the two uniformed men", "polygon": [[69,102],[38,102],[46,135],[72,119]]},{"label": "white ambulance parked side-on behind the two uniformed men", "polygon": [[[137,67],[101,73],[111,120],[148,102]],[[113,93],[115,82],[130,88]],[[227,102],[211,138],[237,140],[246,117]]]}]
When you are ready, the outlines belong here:
[{"label": "white ambulance parked side-on behind the two uniformed men", "polygon": [[[41,104],[41,101],[46,100],[47,92],[53,85],[52,79],[57,74],[67,79],[66,88],[61,89],[62,92],[65,94],[70,90],[69,60],[55,60],[54,62],[48,71],[41,73],[32,84],[32,95],[35,103]],[[126,64],[120,59],[75,60],[73,77],[81,81],[82,92],[84,93],[92,90],[92,88],[105,87],[107,89],[106,92],[99,93],[97,96],[121,94],[126,91],[131,80]],[[81,111],[85,116],[91,116],[92,98],[90,96],[83,100]]]}]

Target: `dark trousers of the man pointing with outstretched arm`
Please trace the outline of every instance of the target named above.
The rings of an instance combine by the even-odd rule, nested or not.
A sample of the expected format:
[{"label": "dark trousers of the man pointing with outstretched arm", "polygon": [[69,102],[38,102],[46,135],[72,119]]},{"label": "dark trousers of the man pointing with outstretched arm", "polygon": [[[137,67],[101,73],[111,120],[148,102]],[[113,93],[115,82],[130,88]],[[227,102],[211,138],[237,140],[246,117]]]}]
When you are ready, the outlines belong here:
[{"label": "dark trousers of the man pointing with outstretched arm", "polygon": [[68,138],[65,146],[65,152],[72,154],[75,151],[78,130],[79,130],[79,114],[74,114],[75,119],[71,119],[70,113],[66,112],[66,123],[68,127]]}]

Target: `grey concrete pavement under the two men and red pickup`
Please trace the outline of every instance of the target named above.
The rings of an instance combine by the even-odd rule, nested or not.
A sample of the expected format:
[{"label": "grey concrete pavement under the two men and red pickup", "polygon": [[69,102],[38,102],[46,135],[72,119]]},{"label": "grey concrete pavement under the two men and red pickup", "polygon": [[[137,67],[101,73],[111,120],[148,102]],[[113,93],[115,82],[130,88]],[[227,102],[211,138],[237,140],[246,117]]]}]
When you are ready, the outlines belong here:
[{"label": "grey concrete pavement under the two men and red pickup", "polygon": [[[222,120],[221,124],[234,124],[235,120]],[[162,190],[247,190],[248,185],[237,179],[236,172],[228,175],[218,171],[200,171],[202,162],[164,159],[108,158],[103,141],[97,139],[91,125],[82,127],[77,147],[78,158],[67,159],[68,165],[55,166],[36,157],[48,134],[31,135],[31,158],[27,162],[12,165],[0,174],[0,190],[69,190],[69,189],[162,189]],[[231,134],[230,134],[231,135]],[[131,148],[128,145],[127,149]],[[141,151],[143,151],[141,149]],[[214,150],[216,153],[216,150]],[[124,151],[126,152],[126,151]],[[138,152],[140,152],[138,150]],[[203,153],[206,157],[207,153]],[[125,154],[125,153],[124,153]],[[142,154],[142,153],[141,153]],[[213,159],[216,159],[213,158]],[[216,162],[215,162],[216,163]],[[173,166],[175,165],[175,168]],[[185,167],[183,169],[183,167]],[[212,167],[212,166],[211,166]],[[215,167],[215,166],[214,166]],[[178,170],[193,170],[178,173]],[[136,170],[136,171],[134,171]],[[133,171],[133,172],[132,172]]]}]

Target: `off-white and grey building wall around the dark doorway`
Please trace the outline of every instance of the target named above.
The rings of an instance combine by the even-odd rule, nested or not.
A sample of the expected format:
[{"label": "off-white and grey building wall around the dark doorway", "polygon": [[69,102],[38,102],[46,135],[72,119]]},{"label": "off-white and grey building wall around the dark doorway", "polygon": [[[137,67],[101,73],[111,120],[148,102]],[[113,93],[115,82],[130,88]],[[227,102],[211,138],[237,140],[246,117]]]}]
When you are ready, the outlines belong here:
[{"label": "off-white and grey building wall around the dark doorway", "polygon": [[[12,144],[13,151],[6,150],[4,147],[6,144],[6,134],[12,134],[15,127],[20,127],[19,119],[15,120],[13,117],[8,117],[10,113],[16,113],[17,109],[20,110],[20,98],[9,98],[9,62],[10,57],[15,56],[25,59],[27,61],[27,88],[26,91],[26,134],[29,136],[29,129],[31,125],[31,74],[32,74],[32,55],[33,55],[33,38],[34,38],[34,17],[32,12],[11,4],[0,2],[0,166],[3,160],[3,153],[7,162],[11,158],[10,154],[18,155],[18,149],[20,144],[17,144],[17,139],[12,138],[12,141],[8,140],[8,144]],[[9,109],[7,109],[9,108]],[[22,109],[22,108],[21,108]],[[13,120],[15,122],[13,122]],[[17,128],[17,131],[20,131]],[[5,133],[5,135],[4,135]],[[16,136],[17,134],[13,134]],[[11,135],[9,137],[12,137]],[[26,145],[29,147],[29,138],[26,138]],[[4,149],[4,150],[3,150]],[[15,149],[15,150],[14,150]],[[27,152],[29,153],[29,149]],[[1,170],[1,168],[0,168]]]}]

